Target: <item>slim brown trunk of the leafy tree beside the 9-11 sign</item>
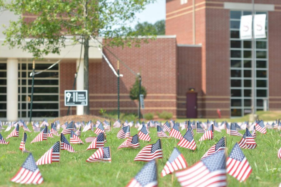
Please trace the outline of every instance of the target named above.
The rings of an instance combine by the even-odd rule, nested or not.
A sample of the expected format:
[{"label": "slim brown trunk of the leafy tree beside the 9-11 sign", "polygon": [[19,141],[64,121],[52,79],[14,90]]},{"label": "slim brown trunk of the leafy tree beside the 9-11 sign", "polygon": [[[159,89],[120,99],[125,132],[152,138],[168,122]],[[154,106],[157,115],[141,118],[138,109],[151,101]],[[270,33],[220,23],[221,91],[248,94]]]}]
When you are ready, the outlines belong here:
[{"label": "slim brown trunk of the leafy tree beside the 9-11 sign", "polygon": [[88,105],[84,107],[84,114],[90,114],[89,98],[89,36],[85,36],[84,41],[84,89],[88,90]]}]

